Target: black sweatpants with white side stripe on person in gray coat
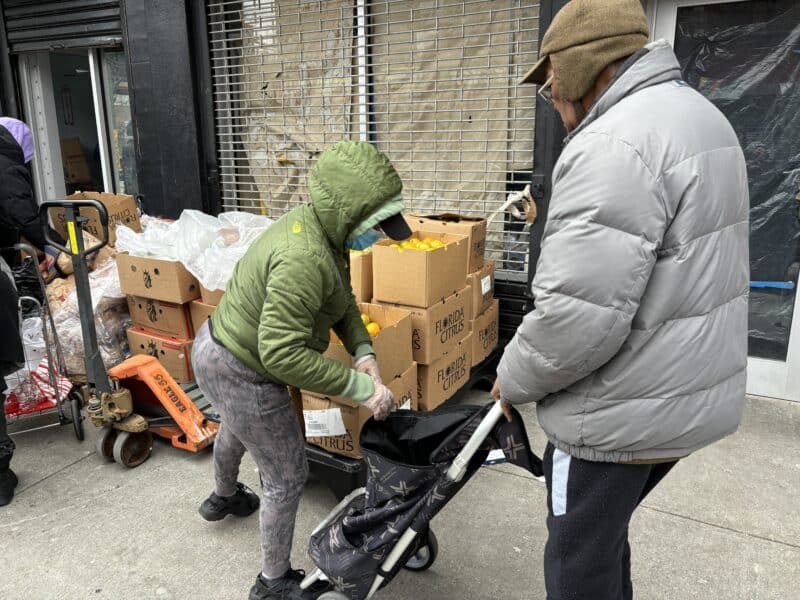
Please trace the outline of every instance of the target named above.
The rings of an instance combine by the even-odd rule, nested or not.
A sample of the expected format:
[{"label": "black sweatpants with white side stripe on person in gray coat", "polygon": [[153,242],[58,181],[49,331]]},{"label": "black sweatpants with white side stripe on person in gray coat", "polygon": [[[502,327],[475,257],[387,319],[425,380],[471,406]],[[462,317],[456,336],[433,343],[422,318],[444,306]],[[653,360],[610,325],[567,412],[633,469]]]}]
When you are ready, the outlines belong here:
[{"label": "black sweatpants with white side stripe on person in gray coat", "polygon": [[633,511],[677,461],[580,460],[547,444],[547,600],[630,600]]}]

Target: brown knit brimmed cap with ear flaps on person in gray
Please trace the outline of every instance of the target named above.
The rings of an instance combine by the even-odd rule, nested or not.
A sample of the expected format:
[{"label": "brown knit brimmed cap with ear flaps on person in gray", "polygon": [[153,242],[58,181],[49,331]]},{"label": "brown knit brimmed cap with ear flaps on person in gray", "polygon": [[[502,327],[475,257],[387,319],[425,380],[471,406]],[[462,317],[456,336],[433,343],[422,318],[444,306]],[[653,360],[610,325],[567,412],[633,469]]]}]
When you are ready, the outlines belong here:
[{"label": "brown knit brimmed cap with ear flaps on person in gray", "polygon": [[643,48],[649,37],[639,0],[572,0],[556,14],[539,61],[520,83],[545,83],[549,61],[559,95],[577,102],[603,69]]}]

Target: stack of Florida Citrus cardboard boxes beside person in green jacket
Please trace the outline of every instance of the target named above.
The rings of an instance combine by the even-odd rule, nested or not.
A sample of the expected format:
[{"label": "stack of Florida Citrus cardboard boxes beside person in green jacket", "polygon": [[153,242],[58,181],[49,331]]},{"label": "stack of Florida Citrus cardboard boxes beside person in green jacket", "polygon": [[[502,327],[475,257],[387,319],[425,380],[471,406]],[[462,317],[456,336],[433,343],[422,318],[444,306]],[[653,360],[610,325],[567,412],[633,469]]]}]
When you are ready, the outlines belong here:
[{"label": "stack of Florida Citrus cardboard boxes beside person in green jacket", "polygon": [[[455,395],[471,368],[497,346],[494,264],[484,261],[485,220],[457,215],[407,220],[414,237],[438,240],[436,247],[406,249],[384,240],[371,250],[351,252],[350,281],[362,314],[381,327],[373,348],[398,405],[433,410]],[[353,366],[335,335],[325,356]],[[358,438],[371,411],[348,398],[308,391],[295,400],[310,443],[361,456]]]}]

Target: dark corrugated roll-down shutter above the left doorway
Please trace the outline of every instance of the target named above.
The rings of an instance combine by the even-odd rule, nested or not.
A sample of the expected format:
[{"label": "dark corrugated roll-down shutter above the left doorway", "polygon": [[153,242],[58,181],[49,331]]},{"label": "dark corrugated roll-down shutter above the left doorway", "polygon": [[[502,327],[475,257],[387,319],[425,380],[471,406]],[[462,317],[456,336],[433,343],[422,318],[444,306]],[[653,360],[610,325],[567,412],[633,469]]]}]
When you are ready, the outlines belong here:
[{"label": "dark corrugated roll-down shutter above the left doorway", "polygon": [[122,44],[119,0],[3,0],[11,52]]}]

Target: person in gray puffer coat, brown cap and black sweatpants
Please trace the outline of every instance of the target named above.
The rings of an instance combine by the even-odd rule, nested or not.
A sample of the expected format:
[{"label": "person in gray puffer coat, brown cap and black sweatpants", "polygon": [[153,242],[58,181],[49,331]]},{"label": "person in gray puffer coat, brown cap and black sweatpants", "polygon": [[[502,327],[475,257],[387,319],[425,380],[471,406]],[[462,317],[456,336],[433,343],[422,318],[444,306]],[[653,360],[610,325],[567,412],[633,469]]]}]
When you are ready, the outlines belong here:
[{"label": "person in gray puffer coat, brown cap and black sweatpants", "polygon": [[573,0],[523,80],[569,131],[493,394],[537,403],[548,599],[631,598],[631,515],[745,399],[749,195],[736,133],[648,44],[638,0]]}]

